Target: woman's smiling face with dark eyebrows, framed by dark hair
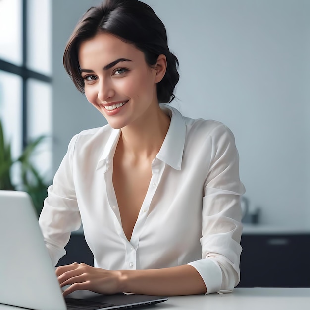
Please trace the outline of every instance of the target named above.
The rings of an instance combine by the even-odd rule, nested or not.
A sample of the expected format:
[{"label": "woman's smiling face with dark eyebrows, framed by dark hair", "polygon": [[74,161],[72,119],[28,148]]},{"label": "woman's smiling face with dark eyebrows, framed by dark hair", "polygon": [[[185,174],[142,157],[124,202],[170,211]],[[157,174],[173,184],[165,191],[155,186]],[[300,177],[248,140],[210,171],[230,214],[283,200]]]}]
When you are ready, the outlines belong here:
[{"label": "woman's smiling face with dark eyebrows, framed by dark hair", "polygon": [[144,53],[133,45],[99,33],[82,42],[79,64],[88,101],[111,127],[138,124],[146,113],[158,107],[156,83],[163,76],[161,65],[151,68]]}]

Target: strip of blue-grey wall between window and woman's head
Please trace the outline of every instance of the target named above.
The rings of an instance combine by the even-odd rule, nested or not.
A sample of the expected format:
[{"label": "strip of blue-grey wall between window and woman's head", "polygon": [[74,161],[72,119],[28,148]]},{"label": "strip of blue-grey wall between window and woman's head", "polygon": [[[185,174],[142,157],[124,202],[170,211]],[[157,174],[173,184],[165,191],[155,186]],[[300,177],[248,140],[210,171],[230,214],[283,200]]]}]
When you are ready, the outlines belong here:
[{"label": "strip of blue-grey wall between window and woman's head", "polygon": [[62,56],[68,38],[82,14],[99,1],[52,1],[53,167],[56,170],[70,139],[83,129],[106,124],[103,116],[79,93],[65,73]]}]

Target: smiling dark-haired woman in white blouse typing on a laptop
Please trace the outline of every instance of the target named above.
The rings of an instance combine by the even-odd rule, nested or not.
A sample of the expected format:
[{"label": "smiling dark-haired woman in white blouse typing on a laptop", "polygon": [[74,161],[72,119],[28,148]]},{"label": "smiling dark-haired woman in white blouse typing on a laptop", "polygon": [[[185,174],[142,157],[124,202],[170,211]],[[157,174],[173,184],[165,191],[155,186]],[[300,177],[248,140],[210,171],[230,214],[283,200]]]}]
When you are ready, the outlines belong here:
[{"label": "smiling dark-haired woman in white blouse typing on a laptop", "polygon": [[95,267],[58,267],[61,286],[113,294],[230,292],[239,282],[239,158],[223,124],[159,103],[178,60],[138,0],[107,0],[76,26],[64,66],[108,125],[73,137],[40,225],[54,264],[83,223]]}]

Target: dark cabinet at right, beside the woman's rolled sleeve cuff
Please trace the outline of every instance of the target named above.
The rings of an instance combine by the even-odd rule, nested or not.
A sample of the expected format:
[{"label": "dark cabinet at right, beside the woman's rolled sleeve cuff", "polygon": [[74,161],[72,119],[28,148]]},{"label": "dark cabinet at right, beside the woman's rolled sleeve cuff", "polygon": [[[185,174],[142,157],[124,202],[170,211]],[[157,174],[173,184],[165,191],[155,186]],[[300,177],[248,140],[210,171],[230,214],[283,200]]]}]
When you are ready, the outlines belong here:
[{"label": "dark cabinet at right, beside the woman's rolled sleeve cuff", "polygon": [[239,287],[310,287],[310,234],[245,234]]}]

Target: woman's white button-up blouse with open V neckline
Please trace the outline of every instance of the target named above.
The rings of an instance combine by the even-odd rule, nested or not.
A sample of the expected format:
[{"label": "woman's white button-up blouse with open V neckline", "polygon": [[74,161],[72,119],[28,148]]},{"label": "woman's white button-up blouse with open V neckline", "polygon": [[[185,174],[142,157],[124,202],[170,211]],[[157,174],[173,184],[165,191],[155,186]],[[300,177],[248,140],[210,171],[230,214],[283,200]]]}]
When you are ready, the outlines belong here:
[{"label": "woman's white button-up blouse with open V neckline", "polygon": [[66,253],[81,222],[94,265],[108,270],[190,264],[207,293],[238,284],[242,233],[239,156],[234,136],[213,120],[171,117],[152,162],[151,182],[130,241],[122,229],[112,183],[120,130],[109,125],[75,135],[48,188],[39,223],[52,262]]}]

